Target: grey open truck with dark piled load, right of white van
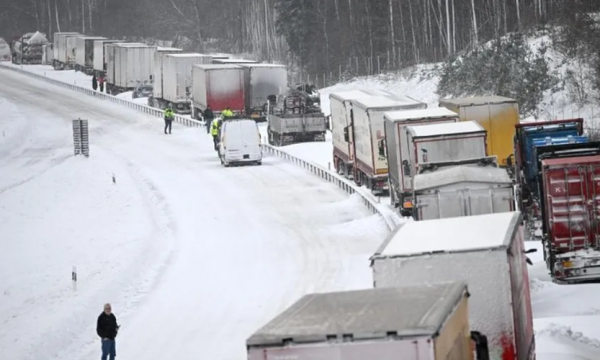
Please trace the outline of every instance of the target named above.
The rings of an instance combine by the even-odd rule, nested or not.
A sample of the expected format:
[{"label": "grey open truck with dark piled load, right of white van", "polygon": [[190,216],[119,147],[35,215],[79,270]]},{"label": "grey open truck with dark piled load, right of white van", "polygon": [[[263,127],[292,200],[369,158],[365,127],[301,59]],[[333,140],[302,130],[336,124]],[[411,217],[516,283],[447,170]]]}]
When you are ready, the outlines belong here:
[{"label": "grey open truck with dark piled load, right of white van", "polygon": [[308,94],[298,90],[271,97],[268,105],[267,141],[286,146],[307,141],[325,141],[327,120]]}]

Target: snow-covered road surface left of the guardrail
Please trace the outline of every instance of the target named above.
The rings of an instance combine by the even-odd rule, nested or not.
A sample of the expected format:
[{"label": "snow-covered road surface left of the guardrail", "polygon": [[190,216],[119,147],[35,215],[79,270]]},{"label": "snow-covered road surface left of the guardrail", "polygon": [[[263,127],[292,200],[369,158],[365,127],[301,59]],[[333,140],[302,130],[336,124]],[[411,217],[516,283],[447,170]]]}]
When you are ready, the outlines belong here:
[{"label": "snow-covered road surface left of the guardrail", "polygon": [[[223,168],[202,128],[164,135],[160,119],[4,69],[0,84],[6,358],[97,359],[111,302],[119,358],[242,359],[305,293],[371,286],[387,229],[358,198],[275,158]],[[72,155],[78,117],[88,159]]]}]

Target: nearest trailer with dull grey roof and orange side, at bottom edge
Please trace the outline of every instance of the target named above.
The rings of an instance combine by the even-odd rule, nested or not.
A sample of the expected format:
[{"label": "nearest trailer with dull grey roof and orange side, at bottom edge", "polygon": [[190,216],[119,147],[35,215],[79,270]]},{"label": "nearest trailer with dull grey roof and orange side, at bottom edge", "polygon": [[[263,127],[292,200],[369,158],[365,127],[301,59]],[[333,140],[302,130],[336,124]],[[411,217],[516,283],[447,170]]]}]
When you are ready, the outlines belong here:
[{"label": "nearest trailer with dull grey roof and orange side, at bottom edge", "polygon": [[246,341],[248,360],[472,360],[466,283],[309,294]]}]

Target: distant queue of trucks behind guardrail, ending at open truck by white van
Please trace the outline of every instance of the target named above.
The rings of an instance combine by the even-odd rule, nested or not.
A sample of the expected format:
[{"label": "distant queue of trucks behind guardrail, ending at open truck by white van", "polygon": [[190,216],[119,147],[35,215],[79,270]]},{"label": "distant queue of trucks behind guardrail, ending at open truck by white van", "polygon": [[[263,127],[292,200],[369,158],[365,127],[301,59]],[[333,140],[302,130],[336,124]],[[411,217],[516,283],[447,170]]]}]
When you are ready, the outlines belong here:
[{"label": "distant queue of trucks behind guardrail, ending at open truck by white van", "polygon": [[[133,97],[147,96],[149,106],[171,107],[198,120],[210,106],[216,115],[230,108],[234,114],[267,121],[270,141],[325,141],[325,115],[313,106],[318,94],[300,90],[303,86],[290,89],[283,65],[75,32],[54,33],[52,63],[56,70],[103,77],[110,94],[132,91]],[[299,104],[290,107],[290,102]]]}]

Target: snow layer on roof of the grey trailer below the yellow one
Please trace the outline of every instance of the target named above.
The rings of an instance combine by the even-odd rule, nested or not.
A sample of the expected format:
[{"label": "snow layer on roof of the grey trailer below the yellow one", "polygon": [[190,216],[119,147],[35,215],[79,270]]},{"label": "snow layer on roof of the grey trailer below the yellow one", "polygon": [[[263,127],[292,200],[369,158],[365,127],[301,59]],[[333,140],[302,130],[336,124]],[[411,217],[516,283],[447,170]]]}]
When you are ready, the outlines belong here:
[{"label": "snow layer on roof of the grey trailer below the yellow one", "polygon": [[512,185],[512,180],[505,169],[489,166],[455,166],[416,175],[413,188],[419,191],[461,182]]}]

